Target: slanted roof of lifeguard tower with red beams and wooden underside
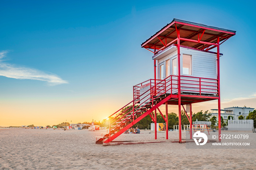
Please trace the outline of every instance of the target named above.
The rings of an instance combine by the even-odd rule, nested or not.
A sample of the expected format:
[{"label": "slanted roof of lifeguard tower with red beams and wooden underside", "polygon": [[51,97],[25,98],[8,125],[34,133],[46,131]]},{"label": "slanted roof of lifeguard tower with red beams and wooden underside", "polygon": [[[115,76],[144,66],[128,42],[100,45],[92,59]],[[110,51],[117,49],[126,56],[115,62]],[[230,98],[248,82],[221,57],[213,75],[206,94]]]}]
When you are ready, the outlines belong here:
[{"label": "slanted roof of lifeguard tower with red beams and wooden underside", "polygon": [[180,31],[180,45],[210,50],[217,46],[217,39],[221,44],[236,35],[236,31],[207,26],[200,23],[173,19],[149,39],[142,43],[141,47],[155,49],[155,53],[165,49],[167,46],[177,44],[177,30]]}]

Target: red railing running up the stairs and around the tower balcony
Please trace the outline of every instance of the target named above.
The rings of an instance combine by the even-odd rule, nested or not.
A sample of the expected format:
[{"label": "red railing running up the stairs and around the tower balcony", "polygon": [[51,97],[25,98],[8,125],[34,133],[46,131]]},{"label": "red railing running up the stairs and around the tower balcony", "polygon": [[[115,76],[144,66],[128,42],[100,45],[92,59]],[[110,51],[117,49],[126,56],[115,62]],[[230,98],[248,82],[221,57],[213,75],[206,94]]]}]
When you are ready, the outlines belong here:
[{"label": "red railing running up the stairs and around the tower balcony", "polygon": [[[208,78],[197,78],[192,76],[180,76],[180,87],[182,92],[193,92],[199,94],[219,94],[218,90],[218,80],[217,79],[208,79]],[[149,86],[149,87],[148,87]],[[141,88],[148,87],[146,91],[140,92]],[[163,94],[174,94],[178,91],[178,76],[171,75],[164,80],[154,80],[149,79],[142,83],[139,83],[133,86],[133,100],[127,105],[117,110],[109,116],[109,140],[111,141],[111,131],[114,130],[117,126],[121,125],[123,122],[131,118],[134,121],[134,115],[138,112],[141,112],[145,105],[150,104],[152,107],[154,105],[154,100]],[[141,94],[142,93],[142,94]],[[152,104],[150,103],[152,102]],[[124,111],[120,110],[131,105]],[[138,105],[138,106],[136,106]],[[135,107],[136,106],[136,107]],[[130,110],[128,113],[127,110]],[[136,111],[135,111],[136,110]],[[120,112],[120,113],[118,113]],[[113,118],[111,118],[113,116]],[[124,118],[126,117],[126,118]],[[113,123],[111,121],[117,119]],[[123,119],[123,120],[122,120]],[[120,121],[120,122],[118,122]],[[114,126],[111,128],[111,126]]]}]

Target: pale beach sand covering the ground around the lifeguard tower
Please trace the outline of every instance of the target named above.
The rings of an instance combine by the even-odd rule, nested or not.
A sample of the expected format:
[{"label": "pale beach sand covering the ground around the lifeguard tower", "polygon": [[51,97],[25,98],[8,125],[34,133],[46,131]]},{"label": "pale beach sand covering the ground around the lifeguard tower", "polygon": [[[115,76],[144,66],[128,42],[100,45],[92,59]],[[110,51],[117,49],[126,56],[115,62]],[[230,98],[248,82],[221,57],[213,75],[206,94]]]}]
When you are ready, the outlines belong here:
[{"label": "pale beach sand covering the ground around the lifeguard tower", "polygon": [[[0,170],[256,169],[256,149],[252,148],[188,149],[185,143],[170,142],[178,139],[177,132],[169,132],[165,143],[95,144],[95,136],[102,132],[106,130],[0,129]],[[116,140],[155,141],[149,132],[122,134]],[[256,138],[250,140],[255,144]],[[165,133],[158,133],[157,141],[166,141]]]}]

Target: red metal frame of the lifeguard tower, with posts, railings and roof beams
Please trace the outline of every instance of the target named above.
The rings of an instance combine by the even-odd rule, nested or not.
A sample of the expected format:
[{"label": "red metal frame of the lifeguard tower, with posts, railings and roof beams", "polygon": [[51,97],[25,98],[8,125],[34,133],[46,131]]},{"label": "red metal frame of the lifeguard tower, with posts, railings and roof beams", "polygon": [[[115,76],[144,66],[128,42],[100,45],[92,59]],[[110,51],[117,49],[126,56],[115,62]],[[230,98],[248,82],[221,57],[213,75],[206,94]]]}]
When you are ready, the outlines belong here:
[{"label": "red metal frame of the lifeguard tower, with posts, railings and roof beams", "polygon": [[[177,24],[180,24],[177,26]],[[199,30],[193,30],[193,29],[187,29],[183,26],[190,26],[190,27],[197,27]],[[170,31],[170,33],[167,33],[167,35],[163,36],[160,35],[163,33],[163,31],[166,31],[168,28],[174,29]],[[189,31],[192,34],[187,37],[181,37],[180,31]],[[211,31],[217,31],[219,34],[213,34],[206,32],[206,30]],[[173,37],[172,34],[176,32],[177,38]],[[200,35],[201,34],[201,35]],[[225,35],[229,34],[229,35]],[[190,124],[190,139],[192,139],[192,103],[198,103],[198,102],[204,102],[204,101],[210,101],[218,99],[218,128],[219,128],[219,141],[220,135],[221,135],[221,101],[220,101],[220,67],[219,67],[219,46],[225,42],[227,39],[229,39],[231,36],[235,35],[236,33],[225,31],[225,30],[218,30],[214,28],[208,28],[198,25],[193,25],[189,23],[183,23],[183,22],[177,22],[174,21],[170,24],[168,24],[164,29],[159,31],[157,34],[153,35],[150,39],[148,39],[146,42],[142,44],[142,47],[147,49],[148,51],[157,54],[161,50],[167,48],[168,46],[174,44],[174,42],[177,42],[177,75],[171,75],[164,80],[157,80],[156,72],[157,72],[157,61],[154,60],[154,79],[146,80],[142,83],[139,83],[135,86],[133,86],[133,100],[119,109],[117,112],[113,113],[111,116],[109,116],[109,138],[105,140],[103,139],[103,142],[107,143],[112,140],[114,140],[117,136],[119,136],[121,133],[123,133],[126,129],[130,128],[132,125],[135,125],[138,121],[140,121],[142,118],[146,117],[147,115],[150,115],[153,122],[155,123],[155,139],[157,139],[157,110],[163,117],[163,119],[166,122],[166,139],[168,139],[168,105],[178,105],[178,126],[179,126],[179,142],[182,143],[181,140],[181,106],[183,107],[185,114],[189,120]],[[171,36],[172,37],[169,37]],[[197,38],[195,37],[197,35]],[[205,40],[204,35],[211,35],[213,37],[210,37]],[[158,41],[151,43],[151,40],[154,38],[158,38]],[[192,39],[193,38],[193,39]],[[195,39],[196,38],[196,39]],[[204,41],[201,41],[202,38]],[[168,39],[168,44],[167,44]],[[158,44],[158,43],[162,44]],[[191,47],[181,46],[184,42],[191,42],[189,44]],[[221,44],[220,44],[221,42]],[[195,44],[196,45],[193,45]],[[207,78],[199,78],[199,77],[193,77],[193,76],[181,76],[181,54],[180,54],[180,48],[185,47],[189,49],[195,49],[200,50],[204,52],[210,52],[209,50],[217,47],[217,79],[207,79]],[[151,51],[150,49],[153,49]],[[210,52],[214,53],[214,52]],[[188,79],[189,78],[189,79]],[[171,82],[170,82],[171,81]],[[145,91],[143,94],[140,94],[140,87],[150,83],[150,89]],[[209,85],[210,84],[210,85]],[[187,89],[186,89],[187,88]],[[193,89],[191,89],[193,88]],[[173,94],[173,90],[177,91],[177,94]],[[170,92],[171,91],[171,92]],[[168,94],[167,94],[168,92]],[[182,93],[181,93],[182,92]],[[184,94],[185,92],[189,93],[195,93],[197,95],[192,94]],[[206,96],[205,94],[208,93],[214,93],[215,96]],[[144,97],[142,97],[144,95]],[[165,95],[165,98],[161,98],[160,102],[156,101],[156,99],[161,96]],[[161,110],[159,109],[159,106],[162,104],[165,104],[165,117],[163,116]],[[120,110],[124,109],[125,107],[130,106],[128,109],[131,110],[128,113],[124,114],[128,109],[124,110],[124,112],[120,112]],[[136,106],[138,105],[138,106]],[[150,105],[150,108],[147,108],[146,106]],[[189,116],[187,111],[185,110],[183,105],[189,105],[190,112]],[[137,118],[138,113],[142,113],[142,109],[144,109],[141,116]],[[154,112],[154,114],[153,114]],[[112,117],[113,116],[113,117]],[[136,118],[135,118],[136,117]],[[116,121],[112,122],[114,119],[117,119]],[[128,119],[131,119],[131,123],[129,123],[125,128],[120,129],[120,131],[116,131],[115,129],[124,124]],[[126,123],[125,123],[126,124]],[[208,129],[207,129],[208,130]],[[114,134],[112,135],[112,133]],[[106,137],[106,136],[104,136]]]}]

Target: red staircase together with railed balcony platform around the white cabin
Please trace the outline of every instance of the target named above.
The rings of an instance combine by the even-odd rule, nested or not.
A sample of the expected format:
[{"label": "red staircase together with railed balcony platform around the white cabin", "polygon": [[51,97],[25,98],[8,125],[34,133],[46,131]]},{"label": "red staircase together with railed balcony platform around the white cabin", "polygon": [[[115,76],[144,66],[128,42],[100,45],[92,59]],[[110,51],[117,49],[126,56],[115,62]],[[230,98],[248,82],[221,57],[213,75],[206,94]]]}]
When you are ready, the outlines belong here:
[{"label": "red staircase together with railed balcony platform around the white cabin", "polygon": [[[217,79],[180,76],[180,81],[182,106],[218,98]],[[147,115],[154,120],[154,110],[165,102],[177,105],[178,98],[176,75],[163,80],[150,79],[133,86],[133,100],[108,117],[110,130],[102,136],[97,136],[96,144],[113,141]]]}]

